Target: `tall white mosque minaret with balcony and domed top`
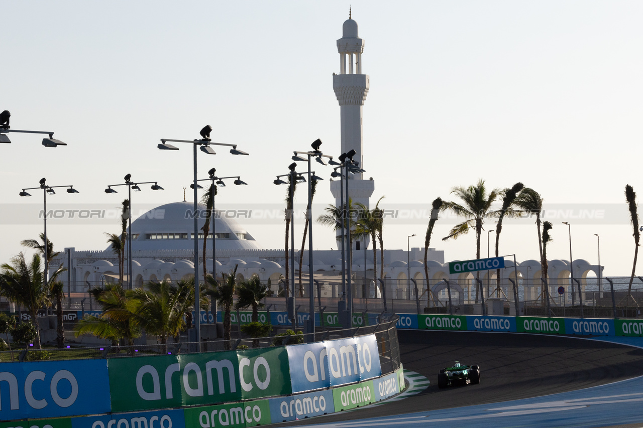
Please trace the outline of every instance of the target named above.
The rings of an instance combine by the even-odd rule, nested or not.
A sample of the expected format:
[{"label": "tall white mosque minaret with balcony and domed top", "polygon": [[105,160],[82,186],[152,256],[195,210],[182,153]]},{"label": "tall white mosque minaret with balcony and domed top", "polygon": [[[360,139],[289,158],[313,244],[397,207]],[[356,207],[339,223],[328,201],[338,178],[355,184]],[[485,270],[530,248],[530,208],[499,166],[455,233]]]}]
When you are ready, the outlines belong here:
[{"label": "tall white mosque minaret with balcony and domed top", "polygon": [[[364,40],[358,36],[358,23],[352,19],[344,21],[343,34],[337,40],[337,50],[340,53],[340,73],[333,73],[332,88],[340,103],[341,118],[341,152],[347,153],[353,149],[354,160],[359,161],[360,168],[367,171],[364,163],[362,111],[368,94],[368,75],[362,74],[362,53]],[[357,202],[369,206],[368,199],[375,190],[373,179],[364,179],[363,174],[350,176],[349,195],[352,203]],[[331,182],[331,192],[335,198],[335,206],[341,206],[340,181]],[[354,249],[356,244],[353,244]]]}]

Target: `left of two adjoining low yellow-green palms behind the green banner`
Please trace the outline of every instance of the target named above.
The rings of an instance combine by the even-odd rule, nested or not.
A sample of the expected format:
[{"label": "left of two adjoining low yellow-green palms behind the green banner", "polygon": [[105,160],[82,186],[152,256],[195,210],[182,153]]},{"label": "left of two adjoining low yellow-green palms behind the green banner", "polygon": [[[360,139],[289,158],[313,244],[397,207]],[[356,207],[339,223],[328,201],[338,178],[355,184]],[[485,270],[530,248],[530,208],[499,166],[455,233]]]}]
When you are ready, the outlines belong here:
[{"label": "left of two adjoining low yellow-green palms behind the green banner", "polygon": [[138,311],[141,301],[134,297],[134,290],[123,289],[122,284],[109,284],[104,288],[91,290],[96,303],[102,309],[100,316],[85,316],[74,326],[76,337],[82,334],[93,334],[100,339],[107,339],[113,344],[123,339],[133,355],[134,339],[141,335],[138,322]]}]

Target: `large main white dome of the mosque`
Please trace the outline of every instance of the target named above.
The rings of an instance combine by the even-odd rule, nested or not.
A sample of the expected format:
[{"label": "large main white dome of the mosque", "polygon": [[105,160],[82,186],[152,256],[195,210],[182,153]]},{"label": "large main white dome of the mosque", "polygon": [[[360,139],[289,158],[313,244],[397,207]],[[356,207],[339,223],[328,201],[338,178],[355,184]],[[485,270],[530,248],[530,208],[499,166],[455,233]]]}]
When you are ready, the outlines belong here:
[{"label": "large main white dome of the mosque", "polygon": [[[203,212],[205,207],[199,205]],[[192,250],[194,251],[194,204],[192,202],[172,202],[158,206],[136,218],[132,222],[133,251]],[[214,222],[218,250],[260,249],[255,238],[233,218],[219,217]],[[199,220],[199,234],[202,234],[204,220]],[[212,240],[212,236],[208,237]],[[210,243],[208,243],[210,244]],[[203,247],[203,237],[199,248]],[[211,247],[211,245],[208,245]],[[111,247],[108,247],[110,250]]]}]

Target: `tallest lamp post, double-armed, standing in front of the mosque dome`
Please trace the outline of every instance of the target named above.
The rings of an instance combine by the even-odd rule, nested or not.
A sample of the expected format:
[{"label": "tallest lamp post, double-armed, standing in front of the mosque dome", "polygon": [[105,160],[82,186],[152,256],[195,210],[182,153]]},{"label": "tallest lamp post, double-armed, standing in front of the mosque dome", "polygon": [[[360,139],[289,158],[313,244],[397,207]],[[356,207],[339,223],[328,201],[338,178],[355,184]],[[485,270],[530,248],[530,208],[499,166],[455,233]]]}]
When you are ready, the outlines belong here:
[{"label": "tallest lamp post, double-armed, standing in front of the mosque dome", "polygon": [[160,150],[179,150],[178,147],[174,147],[171,144],[167,144],[168,141],[172,143],[188,143],[192,144],[193,148],[193,169],[194,169],[194,332],[196,335],[197,352],[201,352],[201,306],[199,302],[201,301],[201,296],[199,292],[199,217],[197,213],[198,209],[198,195],[197,195],[197,146],[201,148],[201,152],[206,154],[216,154],[212,147],[210,146],[226,146],[231,147],[230,153],[233,155],[248,155],[246,152],[237,150],[236,144],[226,144],[226,143],[213,143],[210,138],[210,132],[212,132],[212,127],[206,125],[199,131],[201,134],[201,139],[168,139],[161,138],[161,144],[157,145]]}]

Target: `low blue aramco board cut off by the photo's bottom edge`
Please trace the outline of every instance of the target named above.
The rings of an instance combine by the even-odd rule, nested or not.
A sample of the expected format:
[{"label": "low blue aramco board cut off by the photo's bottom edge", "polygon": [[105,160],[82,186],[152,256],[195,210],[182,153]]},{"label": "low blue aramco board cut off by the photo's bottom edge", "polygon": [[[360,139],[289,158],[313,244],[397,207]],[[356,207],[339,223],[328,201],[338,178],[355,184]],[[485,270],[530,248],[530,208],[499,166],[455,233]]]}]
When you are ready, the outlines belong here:
[{"label": "low blue aramco board cut off by the photo's bottom edge", "polygon": [[183,410],[158,410],[73,418],[71,428],[185,428]]}]

